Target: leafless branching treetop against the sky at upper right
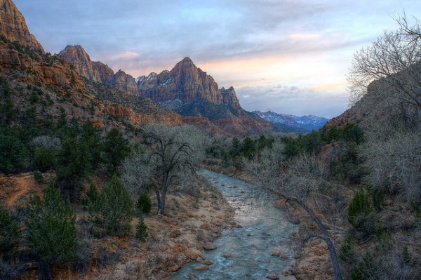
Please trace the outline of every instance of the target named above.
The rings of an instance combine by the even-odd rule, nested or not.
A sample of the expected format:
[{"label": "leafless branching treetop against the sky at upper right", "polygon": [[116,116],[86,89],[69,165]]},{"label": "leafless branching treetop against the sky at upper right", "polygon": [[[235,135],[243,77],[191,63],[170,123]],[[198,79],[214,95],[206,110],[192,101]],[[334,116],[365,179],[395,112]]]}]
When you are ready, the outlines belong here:
[{"label": "leafless branching treetop against the sky at upper right", "polygon": [[[410,25],[406,16],[397,17],[399,29],[385,31],[370,46],[354,54],[347,77],[351,101],[358,101],[380,88],[381,98],[399,100],[403,105],[421,109],[421,29],[419,21]],[[382,82],[372,83],[375,80]],[[369,87],[370,85],[370,87]]]}]

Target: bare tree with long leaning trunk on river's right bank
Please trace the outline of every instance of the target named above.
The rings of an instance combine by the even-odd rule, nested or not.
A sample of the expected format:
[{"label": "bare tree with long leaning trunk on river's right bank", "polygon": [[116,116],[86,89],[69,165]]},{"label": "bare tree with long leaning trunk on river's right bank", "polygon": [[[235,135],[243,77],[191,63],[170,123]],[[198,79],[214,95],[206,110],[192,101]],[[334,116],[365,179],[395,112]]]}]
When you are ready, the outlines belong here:
[{"label": "bare tree with long leaning trunk on river's right bank", "polygon": [[328,229],[321,219],[309,207],[309,198],[328,182],[325,180],[325,168],[314,159],[314,156],[301,154],[288,164],[283,161],[280,152],[264,151],[251,161],[245,160],[244,166],[257,179],[258,191],[276,199],[285,199],[286,203],[300,207],[316,222],[321,238],[326,241],[330,252],[335,279],[342,279],[335,246],[330,239]]}]

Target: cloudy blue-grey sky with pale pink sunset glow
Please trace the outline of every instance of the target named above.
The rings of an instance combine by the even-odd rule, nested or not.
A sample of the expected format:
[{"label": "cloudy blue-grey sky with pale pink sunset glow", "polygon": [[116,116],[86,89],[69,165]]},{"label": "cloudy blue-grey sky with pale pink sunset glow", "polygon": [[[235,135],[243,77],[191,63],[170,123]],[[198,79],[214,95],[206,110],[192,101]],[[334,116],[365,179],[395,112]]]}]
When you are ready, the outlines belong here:
[{"label": "cloudy blue-grey sky with pale pink sunset glow", "polygon": [[14,0],[46,52],[81,45],[134,77],[189,57],[241,107],[331,118],[356,51],[420,0]]}]

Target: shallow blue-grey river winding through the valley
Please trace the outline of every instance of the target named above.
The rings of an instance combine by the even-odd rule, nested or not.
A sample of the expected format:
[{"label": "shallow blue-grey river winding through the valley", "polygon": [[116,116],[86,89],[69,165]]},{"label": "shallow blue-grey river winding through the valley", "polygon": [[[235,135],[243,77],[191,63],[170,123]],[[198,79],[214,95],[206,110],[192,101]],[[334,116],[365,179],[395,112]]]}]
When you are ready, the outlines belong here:
[{"label": "shallow blue-grey river winding through the valley", "polygon": [[[171,279],[266,279],[268,274],[281,275],[292,261],[289,237],[297,227],[286,221],[272,202],[252,205],[247,199],[252,185],[208,170],[199,174],[221,190],[235,209],[234,220],[241,228],[225,230],[213,242],[218,248],[203,253],[203,258],[213,261],[208,270],[194,270],[201,263],[193,262]],[[272,256],[274,252],[280,255]]]}]

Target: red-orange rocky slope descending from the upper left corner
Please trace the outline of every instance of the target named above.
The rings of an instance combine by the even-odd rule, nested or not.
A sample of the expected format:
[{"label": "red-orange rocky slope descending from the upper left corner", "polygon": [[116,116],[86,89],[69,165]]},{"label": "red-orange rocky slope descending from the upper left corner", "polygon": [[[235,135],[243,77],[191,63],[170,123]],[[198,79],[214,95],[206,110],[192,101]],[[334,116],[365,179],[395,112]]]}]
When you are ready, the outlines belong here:
[{"label": "red-orange rocky slope descending from the upper left corner", "polygon": [[[130,96],[98,83],[111,81],[111,77],[114,81],[114,72],[107,65],[94,63],[85,72],[91,75],[89,80],[81,76],[82,67],[76,69],[60,56],[44,53],[13,1],[0,3],[0,86],[4,91],[0,95],[0,120],[21,124],[30,113],[32,121],[54,122],[65,114],[68,121],[90,120],[105,129],[182,124],[182,116],[149,98]],[[84,54],[78,55],[83,58]]]}]

